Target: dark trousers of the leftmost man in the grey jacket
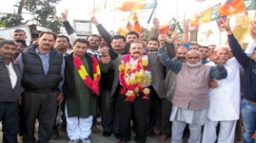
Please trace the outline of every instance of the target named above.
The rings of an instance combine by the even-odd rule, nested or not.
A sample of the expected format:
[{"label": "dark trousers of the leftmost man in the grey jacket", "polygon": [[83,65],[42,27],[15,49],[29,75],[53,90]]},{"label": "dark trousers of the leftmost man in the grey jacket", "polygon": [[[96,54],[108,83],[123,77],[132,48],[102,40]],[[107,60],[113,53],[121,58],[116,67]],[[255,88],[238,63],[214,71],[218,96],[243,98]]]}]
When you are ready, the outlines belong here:
[{"label": "dark trousers of the leftmost man in the grey jacket", "polygon": [[19,102],[0,102],[0,121],[3,124],[3,143],[17,143]]}]

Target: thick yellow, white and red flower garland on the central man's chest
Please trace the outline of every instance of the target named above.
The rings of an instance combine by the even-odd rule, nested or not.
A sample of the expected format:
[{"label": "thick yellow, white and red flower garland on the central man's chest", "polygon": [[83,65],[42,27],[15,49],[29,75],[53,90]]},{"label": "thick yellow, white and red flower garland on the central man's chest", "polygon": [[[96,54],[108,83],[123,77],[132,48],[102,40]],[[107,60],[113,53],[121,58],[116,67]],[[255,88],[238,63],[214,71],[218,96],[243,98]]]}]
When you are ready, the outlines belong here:
[{"label": "thick yellow, white and red flower garland on the central man's chest", "polygon": [[121,94],[125,94],[127,101],[134,101],[139,93],[143,93],[142,99],[149,98],[151,83],[151,72],[148,70],[148,55],[144,54],[132,63],[131,54],[127,54],[119,65],[119,81],[122,86]]}]

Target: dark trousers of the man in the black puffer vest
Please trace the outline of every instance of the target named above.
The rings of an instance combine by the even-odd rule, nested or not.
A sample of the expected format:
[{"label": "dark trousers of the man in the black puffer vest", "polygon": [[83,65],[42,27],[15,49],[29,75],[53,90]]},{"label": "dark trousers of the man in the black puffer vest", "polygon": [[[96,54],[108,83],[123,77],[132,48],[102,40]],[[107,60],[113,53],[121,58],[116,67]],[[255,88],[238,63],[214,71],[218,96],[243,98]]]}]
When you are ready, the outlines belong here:
[{"label": "dark trousers of the man in the black puffer vest", "polygon": [[24,106],[23,143],[34,143],[35,122],[38,118],[38,143],[48,143],[53,134],[56,110],[57,92],[31,93],[25,92],[22,98]]}]

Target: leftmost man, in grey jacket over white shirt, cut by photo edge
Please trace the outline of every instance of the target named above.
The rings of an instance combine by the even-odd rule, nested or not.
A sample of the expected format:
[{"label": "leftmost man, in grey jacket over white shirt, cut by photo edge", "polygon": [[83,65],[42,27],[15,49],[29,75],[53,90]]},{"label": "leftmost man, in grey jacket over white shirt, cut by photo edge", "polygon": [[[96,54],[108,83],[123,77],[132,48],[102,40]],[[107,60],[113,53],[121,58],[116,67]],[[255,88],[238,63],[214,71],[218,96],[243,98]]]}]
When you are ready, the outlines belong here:
[{"label": "leftmost man, in grey jacket over white shirt, cut by photo edge", "polygon": [[0,42],[0,122],[3,123],[3,143],[18,142],[18,115],[21,73],[14,60],[17,45],[14,41]]}]

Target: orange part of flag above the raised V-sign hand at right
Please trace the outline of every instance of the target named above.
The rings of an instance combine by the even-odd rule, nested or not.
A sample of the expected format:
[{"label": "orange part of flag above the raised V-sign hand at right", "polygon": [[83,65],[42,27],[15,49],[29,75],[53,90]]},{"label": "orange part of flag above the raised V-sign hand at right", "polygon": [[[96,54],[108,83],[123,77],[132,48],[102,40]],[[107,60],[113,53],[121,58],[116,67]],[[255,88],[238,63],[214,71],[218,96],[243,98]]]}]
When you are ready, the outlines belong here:
[{"label": "orange part of flag above the raised V-sign hand at right", "polygon": [[237,14],[245,10],[246,7],[244,6],[243,0],[233,0],[232,2],[227,0],[226,3],[218,9],[218,14],[227,16]]}]

